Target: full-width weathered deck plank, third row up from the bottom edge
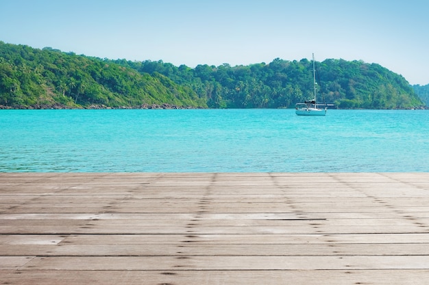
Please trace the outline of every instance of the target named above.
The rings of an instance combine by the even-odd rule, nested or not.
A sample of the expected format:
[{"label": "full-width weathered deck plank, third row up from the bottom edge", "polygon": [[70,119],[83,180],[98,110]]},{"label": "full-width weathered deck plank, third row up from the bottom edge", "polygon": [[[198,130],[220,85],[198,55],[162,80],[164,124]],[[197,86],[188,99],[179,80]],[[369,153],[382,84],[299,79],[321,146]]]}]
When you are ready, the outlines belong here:
[{"label": "full-width weathered deck plank, third row up from the bottom edge", "polygon": [[3,256],[427,256],[429,243],[0,245]]}]

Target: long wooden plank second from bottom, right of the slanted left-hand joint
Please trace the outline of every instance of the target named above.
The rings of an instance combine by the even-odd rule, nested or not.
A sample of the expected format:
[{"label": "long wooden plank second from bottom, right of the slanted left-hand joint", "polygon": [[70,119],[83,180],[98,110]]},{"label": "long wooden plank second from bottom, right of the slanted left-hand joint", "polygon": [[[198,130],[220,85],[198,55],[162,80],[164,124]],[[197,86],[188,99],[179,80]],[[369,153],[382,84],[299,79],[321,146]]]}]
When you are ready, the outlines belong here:
[{"label": "long wooden plank second from bottom, right of the slanted left-hand joint", "polygon": [[44,256],[32,258],[20,270],[377,270],[428,266],[429,256]]}]

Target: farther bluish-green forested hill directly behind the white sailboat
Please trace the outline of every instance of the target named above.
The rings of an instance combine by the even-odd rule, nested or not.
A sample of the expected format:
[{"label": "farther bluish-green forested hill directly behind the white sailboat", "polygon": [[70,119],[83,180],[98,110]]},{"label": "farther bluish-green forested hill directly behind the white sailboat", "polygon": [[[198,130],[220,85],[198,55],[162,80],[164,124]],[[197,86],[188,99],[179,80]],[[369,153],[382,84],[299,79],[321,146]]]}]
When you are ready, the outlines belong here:
[{"label": "farther bluish-green forested hill directly behind the white sailboat", "polygon": [[[163,62],[128,62],[149,74],[161,73],[189,85],[210,107],[278,108],[312,98],[312,62],[274,59],[269,64],[176,68]],[[400,75],[378,64],[327,59],[317,64],[319,100],[341,109],[406,109],[424,105]]]}]

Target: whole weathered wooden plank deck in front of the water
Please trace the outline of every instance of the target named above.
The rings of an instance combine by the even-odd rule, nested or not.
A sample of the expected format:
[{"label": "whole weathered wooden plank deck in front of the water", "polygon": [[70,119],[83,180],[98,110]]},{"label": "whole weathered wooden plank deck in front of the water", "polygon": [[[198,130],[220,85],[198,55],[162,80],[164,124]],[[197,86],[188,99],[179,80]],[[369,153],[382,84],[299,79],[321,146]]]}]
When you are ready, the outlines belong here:
[{"label": "whole weathered wooden plank deck in front of the water", "polygon": [[428,284],[429,173],[0,174],[0,284]]}]

